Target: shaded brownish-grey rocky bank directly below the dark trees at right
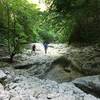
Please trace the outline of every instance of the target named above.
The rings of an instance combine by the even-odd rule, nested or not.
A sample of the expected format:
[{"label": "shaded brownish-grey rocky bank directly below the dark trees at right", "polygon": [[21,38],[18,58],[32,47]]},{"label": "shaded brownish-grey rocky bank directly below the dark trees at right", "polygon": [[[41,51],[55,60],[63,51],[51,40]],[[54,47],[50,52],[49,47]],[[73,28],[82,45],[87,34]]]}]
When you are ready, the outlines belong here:
[{"label": "shaded brownish-grey rocky bank directly below the dark trees at right", "polygon": [[100,73],[100,47],[67,47],[66,58],[71,61],[73,68],[85,75]]}]

